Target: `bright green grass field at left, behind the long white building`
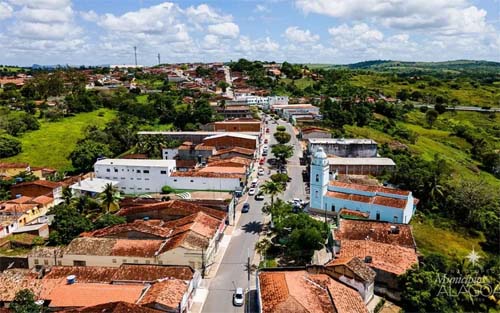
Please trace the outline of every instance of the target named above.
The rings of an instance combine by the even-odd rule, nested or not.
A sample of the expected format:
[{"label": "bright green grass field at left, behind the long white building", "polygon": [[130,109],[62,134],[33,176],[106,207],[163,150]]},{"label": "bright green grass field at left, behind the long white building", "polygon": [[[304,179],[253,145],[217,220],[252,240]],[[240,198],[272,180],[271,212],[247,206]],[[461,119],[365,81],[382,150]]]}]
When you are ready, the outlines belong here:
[{"label": "bright green grass field at left, behind the long white building", "polygon": [[[101,113],[103,116],[99,116]],[[71,162],[67,158],[78,139],[82,138],[83,128],[92,124],[102,127],[114,116],[113,111],[100,109],[64,118],[59,122],[41,121],[39,130],[28,132],[20,138],[23,152],[2,161],[27,162],[31,166],[69,170]]]}]

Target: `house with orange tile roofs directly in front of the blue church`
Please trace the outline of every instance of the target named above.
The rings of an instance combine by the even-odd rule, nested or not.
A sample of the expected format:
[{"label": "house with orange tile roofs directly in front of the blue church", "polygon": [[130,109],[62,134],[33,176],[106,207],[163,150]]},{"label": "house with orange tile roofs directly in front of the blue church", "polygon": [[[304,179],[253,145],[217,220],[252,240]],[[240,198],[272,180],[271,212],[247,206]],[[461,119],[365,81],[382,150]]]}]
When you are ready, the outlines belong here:
[{"label": "house with orange tile roofs directly in front of the blue church", "polygon": [[398,276],[418,264],[410,225],[339,219],[332,237],[337,259],[327,266],[338,264],[345,258],[363,260],[376,273],[375,291],[397,290]]}]

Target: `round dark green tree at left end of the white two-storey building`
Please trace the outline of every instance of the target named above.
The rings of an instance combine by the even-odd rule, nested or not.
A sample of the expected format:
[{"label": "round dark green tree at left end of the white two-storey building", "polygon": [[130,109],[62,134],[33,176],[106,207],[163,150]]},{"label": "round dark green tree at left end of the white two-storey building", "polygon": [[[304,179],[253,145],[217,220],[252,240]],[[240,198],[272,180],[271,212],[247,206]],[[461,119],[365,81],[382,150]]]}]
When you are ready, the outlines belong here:
[{"label": "round dark green tree at left end of the white two-storey building", "polygon": [[69,159],[78,172],[89,172],[92,171],[98,158],[110,156],[112,153],[108,145],[93,140],[84,140],[71,152]]}]

